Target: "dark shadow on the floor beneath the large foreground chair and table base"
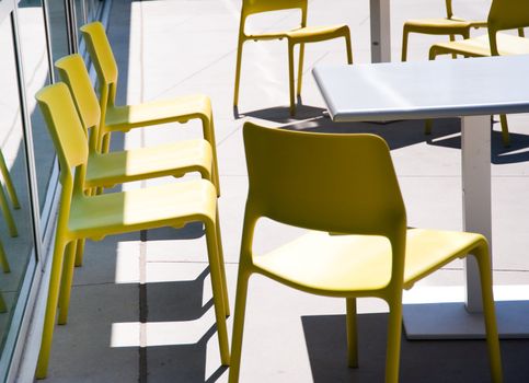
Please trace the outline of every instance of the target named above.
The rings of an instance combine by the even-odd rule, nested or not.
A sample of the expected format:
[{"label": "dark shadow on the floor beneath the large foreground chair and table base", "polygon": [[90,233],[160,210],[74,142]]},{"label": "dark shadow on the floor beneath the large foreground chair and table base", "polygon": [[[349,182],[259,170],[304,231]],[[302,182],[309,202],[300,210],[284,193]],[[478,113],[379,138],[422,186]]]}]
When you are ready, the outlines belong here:
[{"label": "dark shadow on the floor beneath the large foreground chair and table base", "polygon": [[[347,367],[345,315],[302,316],[315,383],[383,382],[388,314],[358,315],[359,368]],[[504,381],[529,381],[529,339],[501,341]],[[485,340],[407,340],[402,336],[400,381],[488,382]]]}]

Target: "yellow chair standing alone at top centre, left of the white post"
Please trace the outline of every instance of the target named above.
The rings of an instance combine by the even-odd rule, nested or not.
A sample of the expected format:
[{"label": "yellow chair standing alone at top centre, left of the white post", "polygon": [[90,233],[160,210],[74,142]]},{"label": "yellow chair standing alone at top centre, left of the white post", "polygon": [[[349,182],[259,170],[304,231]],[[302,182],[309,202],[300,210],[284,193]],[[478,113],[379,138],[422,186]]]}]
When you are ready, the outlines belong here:
[{"label": "yellow chair standing alone at top centre, left of the white post", "polygon": [[[262,34],[246,34],[245,23],[250,15],[271,11],[301,10],[300,26],[290,31],[262,33]],[[347,50],[347,62],[353,63],[353,53],[350,48],[350,34],[347,25],[331,25],[331,26],[307,26],[307,0],[243,0],[241,10],[241,22],[239,26],[239,43],[237,45],[237,67],[235,67],[235,92],[233,96],[233,106],[237,108],[239,104],[239,83],[241,77],[241,59],[242,46],[246,40],[269,40],[283,39],[288,42],[288,79],[290,91],[290,115],[296,114],[296,98],[294,94],[295,79],[294,79],[294,47],[299,44],[299,62],[298,62],[298,88],[297,96],[301,95],[301,80],[303,76],[303,56],[306,43],[324,42],[337,37],[344,37]]]}]

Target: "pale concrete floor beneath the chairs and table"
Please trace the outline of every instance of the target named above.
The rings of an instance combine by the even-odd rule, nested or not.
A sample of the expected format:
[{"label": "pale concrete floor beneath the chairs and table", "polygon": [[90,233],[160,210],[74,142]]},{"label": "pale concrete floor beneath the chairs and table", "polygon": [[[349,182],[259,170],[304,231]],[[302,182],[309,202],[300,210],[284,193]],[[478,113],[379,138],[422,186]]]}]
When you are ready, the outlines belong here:
[{"label": "pale concrete floor beneath the chairs and table", "polygon": [[[479,18],[487,1],[458,2],[461,15]],[[444,1],[392,3],[392,55],[400,58],[405,19],[441,15]],[[356,62],[368,62],[368,1],[310,1],[309,23],[347,23]],[[239,0],[114,0],[108,34],[119,66],[118,98],[135,103],[189,93],[212,100],[222,196],[220,220],[233,304],[248,176],[241,127],[248,119],[268,126],[318,131],[369,131],[386,138],[413,227],[461,229],[459,120],[436,120],[432,136],[423,121],[389,125],[333,124],[311,77],[320,62],[345,62],[342,42],[307,49],[303,106],[288,117],[286,45],[248,43],[243,56],[239,118],[233,115]],[[296,14],[274,14],[254,27],[280,28]],[[271,27],[272,25],[272,27]],[[410,59],[424,60],[435,38],[412,36]],[[513,146],[501,144],[498,124],[492,144],[494,277],[505,291],[529,286],[529,135],[528,116],[509,117]],[[138,129],[116,135],[116,148],[152,146],[199,137],[187,126]],[[168,182],[126,185],[143,187]],[[298,229],[264,221],[256,236],[266,251],[299,235]],[[421,282],[415,291],[463,285],[457,262]],[[413,291],[413,290],[412,290]],[[518,294],[519,295],[519,294]],[[503,293],[504,299],[514,295]],[[413,297],[412,297],[413,298]],[[410,299],[412,299],[410,298]],[[451,298],[451,297],[449,297]],[[529,294],[518,297],[529,300]],[[432,297],[429,297],[432,300]],[[456,297],[462,300],[462,294]],[[383,380],[387,307],[359,301],[360,368],[346,367],[345,304],[311,297],[262,277],[250,285],[241,382],[380,382]],[[202,228],[156,230],[105,239],[87,245],[84,266],[76,270],[69,323],[56,328],[48,382],[226,382],[220,365]],[[228,322],[231,330],[232,322]],[[529,381],[528,340],[503,340],[507,382]],[[482,340],[403,340],[403,382],[486,382]]]}]

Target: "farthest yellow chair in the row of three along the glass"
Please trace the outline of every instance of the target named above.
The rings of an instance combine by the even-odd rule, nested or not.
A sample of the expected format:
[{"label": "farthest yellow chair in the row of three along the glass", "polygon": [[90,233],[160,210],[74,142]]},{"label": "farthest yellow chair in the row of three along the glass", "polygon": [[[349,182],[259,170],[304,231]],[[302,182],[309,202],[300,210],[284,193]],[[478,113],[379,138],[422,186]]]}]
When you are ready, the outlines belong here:
[{"label": "farthest yellow chair in the row of three along the glass", "polygon": [[187,123],[200,119],[204,138],[212,150],[212,179],[220,195],[217,148],[211,102],[203,94],[147,102],[138,105],[115,105],[117,90],[117,63],[103,24],[93,22],[81,27],[100,85],[101,121],[99,144],[106,153],[112,131],[129,131],[134,128],[168,123]]}]

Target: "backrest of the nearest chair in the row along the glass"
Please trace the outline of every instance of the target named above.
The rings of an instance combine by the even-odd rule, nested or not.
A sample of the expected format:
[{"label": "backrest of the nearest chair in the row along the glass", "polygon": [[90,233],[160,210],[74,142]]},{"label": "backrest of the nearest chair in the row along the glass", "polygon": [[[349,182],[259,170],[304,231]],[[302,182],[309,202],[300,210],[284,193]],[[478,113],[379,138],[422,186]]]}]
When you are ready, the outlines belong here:
[{"label": "backrest of the nearest chair in the row along the glass", "polygon": [[61,175],[85,165],[87,136],[68,86],[58,82],[45,86],[35,97],[57,150]]}]

